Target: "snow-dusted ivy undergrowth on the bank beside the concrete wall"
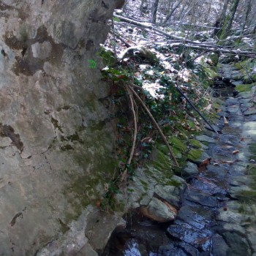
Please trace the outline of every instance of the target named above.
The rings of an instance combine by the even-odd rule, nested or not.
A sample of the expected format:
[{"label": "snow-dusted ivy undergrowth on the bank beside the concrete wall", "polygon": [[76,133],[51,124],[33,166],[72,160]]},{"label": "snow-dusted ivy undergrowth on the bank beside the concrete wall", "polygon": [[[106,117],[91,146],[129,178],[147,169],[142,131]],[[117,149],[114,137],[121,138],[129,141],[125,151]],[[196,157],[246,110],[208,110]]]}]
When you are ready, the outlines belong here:
[{"label": "snow-dusted ivy undergrowth on the bank beside the concrete wall", "polygon": [[[184,53],[184,49],[160,47],[157,51],[167,57],[165,61],[160,59],[159,64],[139,54],[118,61],[114,59],[110,51],[101,50],[100,52],[103,64],[106,66],[102,69],[102,76],[110,83],[112,118],[116,120],[114,129],[118,162],[116,176],[108,182],[105,197],[101,200],[100,207],[103,210],[116,208],[115,195],[127,187],[136,168],[145,165],[151,159],[156,145],[162,143],[151,118],[141,108],[140,103],[133,99],[138,131],[132,162],[127,164],[127,159],[131,154],[132,136],[135,132],[127,86],[133,86],[132,88],[140,95],[165,136],[185,142],[186,146],[182,148],[182,151],[181,148],[175,148],[184,156],[179,159],[181,166],[184,165],[187,159],[186,154],[192,146],[189,139],[198,134],[203,126],[195,110],[177,91],[176,86],[187,94],[187,97],[202,113],[208,117],[211,116],[209,112],[211,99],[207,91],[211,86],[212,78],[209,78],[206,68],[195,62],[191,52]],[[166,62],[170,64],[169,69],[165,67]],[[145,83],[155,84],[157,90],[154,95],[144,89]],[[170,145],[175,147],[171,142]]]}]

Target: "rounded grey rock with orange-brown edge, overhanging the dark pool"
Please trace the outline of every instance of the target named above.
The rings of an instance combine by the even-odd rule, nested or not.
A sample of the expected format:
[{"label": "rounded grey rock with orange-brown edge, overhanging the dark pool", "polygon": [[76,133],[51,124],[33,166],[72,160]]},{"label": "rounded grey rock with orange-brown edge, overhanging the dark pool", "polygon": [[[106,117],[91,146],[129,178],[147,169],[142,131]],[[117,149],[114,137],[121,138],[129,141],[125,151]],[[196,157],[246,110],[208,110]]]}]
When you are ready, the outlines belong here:
[{"label": "rounded grey rock with orange-brown edge, overhanging the dark pool", "polygon": [[149,219],[157,222],[170,222],[176,218],[177,210],[169,203],[163,203],[161,200],[153,197],[148,206],[140,208],[140,212]]}]

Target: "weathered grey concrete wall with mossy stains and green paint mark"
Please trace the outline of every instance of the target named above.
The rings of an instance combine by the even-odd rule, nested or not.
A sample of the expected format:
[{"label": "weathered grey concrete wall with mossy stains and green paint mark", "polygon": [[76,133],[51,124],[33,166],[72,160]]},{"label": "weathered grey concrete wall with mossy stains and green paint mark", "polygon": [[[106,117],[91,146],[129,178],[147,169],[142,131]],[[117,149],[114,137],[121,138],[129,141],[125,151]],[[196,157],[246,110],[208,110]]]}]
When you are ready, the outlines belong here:
[{"label": "weathered grey concrete wall with mossy stains and green paint mark", "polygon": [[119,2],[0,1],[0,255],[101,249],[85,246],[113,172],[97,48]]}]

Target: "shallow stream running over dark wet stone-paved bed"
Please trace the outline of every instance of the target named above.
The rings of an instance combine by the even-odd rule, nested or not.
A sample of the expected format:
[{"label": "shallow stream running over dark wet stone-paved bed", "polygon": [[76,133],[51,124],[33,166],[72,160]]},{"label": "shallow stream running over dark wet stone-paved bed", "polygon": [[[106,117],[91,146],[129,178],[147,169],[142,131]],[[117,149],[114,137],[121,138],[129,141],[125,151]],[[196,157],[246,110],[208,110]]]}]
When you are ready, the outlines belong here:
[{"label": "shallow stream running over dark wet stone-paved bed", "polygon": [[241,80],[230,65],[219,73],[219,133],[206,129],[196,137],[211,161],[187,179],[178,216],[159,224],[132,211],[104,256],[256,255],[256,89],[237,93]]}]

